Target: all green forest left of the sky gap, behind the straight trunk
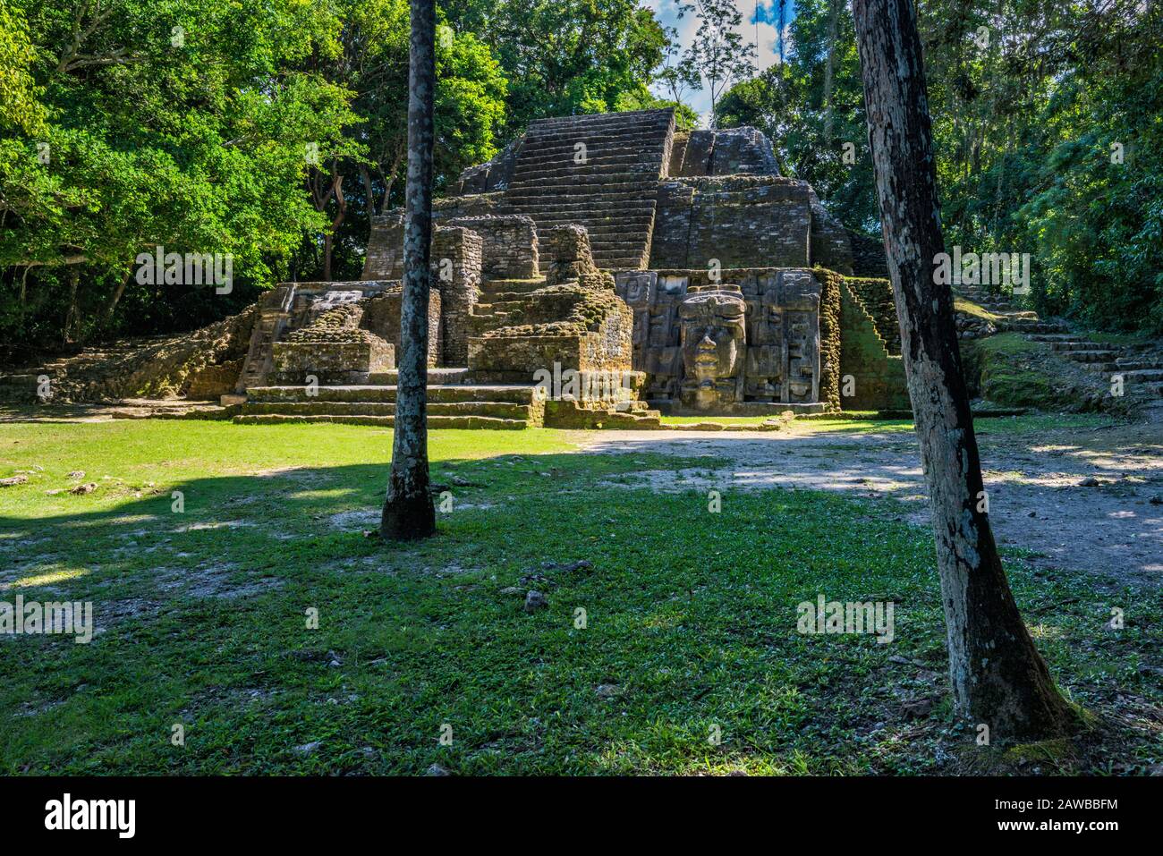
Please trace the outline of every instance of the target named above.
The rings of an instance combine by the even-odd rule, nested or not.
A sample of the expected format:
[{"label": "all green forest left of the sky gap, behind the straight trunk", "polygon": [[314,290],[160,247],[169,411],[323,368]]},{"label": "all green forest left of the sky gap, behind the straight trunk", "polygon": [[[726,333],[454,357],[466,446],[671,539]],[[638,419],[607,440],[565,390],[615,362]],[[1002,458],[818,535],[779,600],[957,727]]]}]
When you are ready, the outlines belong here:
[{"label": "all green forest left of the sky gap, behind the straight trunk", "polygon": [[[445,0],[437,21],[437,192],[534,119],[665,104],[669,34],[635,0]],[[407,0],[0,0],[0,343],[188,328],[358,276],[370,217],[402,202],[407,73]],[[233,293],[142,285],[157,245],[229,254]]]}]

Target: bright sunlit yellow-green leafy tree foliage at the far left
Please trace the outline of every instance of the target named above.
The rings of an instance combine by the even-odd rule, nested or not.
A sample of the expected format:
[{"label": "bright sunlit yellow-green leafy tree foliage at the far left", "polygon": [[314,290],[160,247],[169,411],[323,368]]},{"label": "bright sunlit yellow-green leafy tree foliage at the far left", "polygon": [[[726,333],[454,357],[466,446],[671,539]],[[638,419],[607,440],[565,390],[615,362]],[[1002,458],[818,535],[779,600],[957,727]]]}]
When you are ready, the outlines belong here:
[{"label": "bright sunlit yellow-green leafy tree foliage at the far left", "polygon": [[[70,338],[78,304],[99,316],[147,248],[230,254],[243,279],[265,280],[319,228],[301,190],[307,143],[323,157],[349,148],[355,121],[350,93],[307,67],[338,50],[328,7],[9,3],[45,121],[0,141],[0,265],[21,280],[7,313],[63,309]],[[134,290],[155,318],[172,297]]]}]

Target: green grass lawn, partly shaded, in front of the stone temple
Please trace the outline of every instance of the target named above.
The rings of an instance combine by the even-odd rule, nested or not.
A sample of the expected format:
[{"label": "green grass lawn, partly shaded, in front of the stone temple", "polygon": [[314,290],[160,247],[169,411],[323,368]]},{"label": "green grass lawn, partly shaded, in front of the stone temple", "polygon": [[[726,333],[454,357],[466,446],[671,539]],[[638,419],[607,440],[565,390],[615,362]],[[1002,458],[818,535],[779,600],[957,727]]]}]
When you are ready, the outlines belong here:
[{"label": "green grass lawn, partly shaded, in front of the stone temple", "polygon": [[[91,644],[0,636],[0,772],[913,773],[996,759],[954,723],[932,534],[899,506],[728,491],[712,513],[705,493],[611,483],[720,462],[583,455],[570,436],[435,431],[452,511],[438,537],[399,547],[363,534],[388,431],[0,425],[0,477],[29,471],[0,488],[0,600],[88,600],[101,628]],[[78,482],[99,486],[47,493]],[[1105,722],[1034,768],[1158,764],[1158,593],[1035,573],[1016,555],[1008,569],[1063,691]],[[526,614],[530,587],[548,608]],[[800,635],[797,604],[819,593],[891,600],[893,642]],[[1112,604],[1127,608],[1119,633],[1103,629]],[[930,713],[906,716],[926,698]]]}]

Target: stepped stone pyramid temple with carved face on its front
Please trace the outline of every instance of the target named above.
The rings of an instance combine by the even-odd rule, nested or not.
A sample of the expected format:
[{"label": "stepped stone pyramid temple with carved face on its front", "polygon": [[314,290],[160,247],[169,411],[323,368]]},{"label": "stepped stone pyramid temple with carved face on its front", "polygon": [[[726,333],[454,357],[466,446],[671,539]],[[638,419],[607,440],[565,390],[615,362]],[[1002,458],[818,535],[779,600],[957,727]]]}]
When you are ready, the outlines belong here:
[{"label": "stepped stone pyramid temple with carved face on its front", "polygon": [[[754,128],[541,120],[434,220],[433,427],[908,406],[879,242],[780,177]],[[402,235],[402,211],[378,217],[362,280],[264,299],[237,421],[391,422]]]}]

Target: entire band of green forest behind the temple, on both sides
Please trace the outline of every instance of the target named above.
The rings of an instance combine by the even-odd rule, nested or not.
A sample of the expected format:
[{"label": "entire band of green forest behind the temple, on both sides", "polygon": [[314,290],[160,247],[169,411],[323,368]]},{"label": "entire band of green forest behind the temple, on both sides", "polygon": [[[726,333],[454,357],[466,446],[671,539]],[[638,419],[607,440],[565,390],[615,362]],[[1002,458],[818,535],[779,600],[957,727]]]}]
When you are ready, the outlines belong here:
[{"label": "entire band of green forest behind the temple, on both sides", "polygon": [[[1163,329],[1158,0],[920,13],[950,244],[1029,252],[1042,311]],[[371,216],[402,202],[407,33],[407,0],[0,0],[0,347],[358,276]],[[542,116],[669,105],[693,127],[709,78],[676,35],[636,0],[442,0],[437,193]],[[783,48],[732,72],[716,121],[759,127],[878,235],[848,2],[800,0]],[[229,254],[234,291],[138,283],[156,245]]]}]

